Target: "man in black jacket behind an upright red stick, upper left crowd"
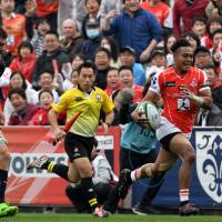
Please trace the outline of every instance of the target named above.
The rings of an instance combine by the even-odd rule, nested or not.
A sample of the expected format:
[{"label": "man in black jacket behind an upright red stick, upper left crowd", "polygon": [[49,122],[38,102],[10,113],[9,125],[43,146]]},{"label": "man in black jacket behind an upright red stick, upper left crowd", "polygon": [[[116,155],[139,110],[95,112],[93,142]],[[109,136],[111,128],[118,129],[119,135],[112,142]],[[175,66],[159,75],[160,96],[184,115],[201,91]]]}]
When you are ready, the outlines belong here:
[{"label": "man in black jacket behind an upright red stick, upper left crowd", "polygon": [[60,72],[62,64],[70,62],[69,56],[60,48],[59,34],[54,31],[49,31],[44,36],[43,53],[37,59],[34,71],[32,73],[32,84],[38,88],[38,77],[44,70],[50,72]]}]

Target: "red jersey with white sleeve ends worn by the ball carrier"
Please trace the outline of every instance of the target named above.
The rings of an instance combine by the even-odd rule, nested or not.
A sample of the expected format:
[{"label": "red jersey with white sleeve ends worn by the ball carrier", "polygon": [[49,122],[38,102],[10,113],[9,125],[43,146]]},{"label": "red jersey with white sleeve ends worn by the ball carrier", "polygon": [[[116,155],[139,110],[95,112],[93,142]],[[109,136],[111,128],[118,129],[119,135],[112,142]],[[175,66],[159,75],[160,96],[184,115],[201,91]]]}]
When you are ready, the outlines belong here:
[{"label": "red jersey with white sleeve ends worn by the ball carrier", "polygon": [[159,93],[163,99],[162,117],[179,128],[181,132],[190,133],[195,119],[196,105],[182,97],[181,87],[186,87],[196,95],[203,90],[210,90],[206,74],[193,67],[184,75],[176,73],[174,67],[167,68],[152,78],[150,90]]}]

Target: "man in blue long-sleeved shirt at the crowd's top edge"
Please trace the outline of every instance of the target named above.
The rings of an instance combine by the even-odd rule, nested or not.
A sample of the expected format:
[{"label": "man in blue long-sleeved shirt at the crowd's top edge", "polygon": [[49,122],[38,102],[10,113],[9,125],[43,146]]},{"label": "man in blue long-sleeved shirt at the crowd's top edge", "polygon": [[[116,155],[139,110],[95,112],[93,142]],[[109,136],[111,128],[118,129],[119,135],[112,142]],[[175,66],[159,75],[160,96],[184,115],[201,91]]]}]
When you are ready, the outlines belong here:
[{"label": "man in blue long-sleeved shirt at the crowd's top edge", "polygon": [[[131,47],[135,61],[145,62],[161,40],[161,27],[155,17],[140,8],[140,1],[124,0],[124,12],[110,11],[102,24],[105,36],[117,34],[119,47]],[[112,19],[112,20],[111,20]]]}]

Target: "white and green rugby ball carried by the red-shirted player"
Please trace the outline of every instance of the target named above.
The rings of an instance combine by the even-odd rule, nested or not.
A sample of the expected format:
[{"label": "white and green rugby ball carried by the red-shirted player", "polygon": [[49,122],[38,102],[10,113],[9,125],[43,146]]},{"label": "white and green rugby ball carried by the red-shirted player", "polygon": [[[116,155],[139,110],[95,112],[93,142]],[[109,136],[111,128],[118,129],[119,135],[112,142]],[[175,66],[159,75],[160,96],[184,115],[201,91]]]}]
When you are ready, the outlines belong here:
[{"label": "white and green rugby ball carried by the red-shirted player", "polygon": [[160,127],[161,114],[152,102],[141,102],[137,109],[141,118],[149,120],[148,129],[157,130]]}]

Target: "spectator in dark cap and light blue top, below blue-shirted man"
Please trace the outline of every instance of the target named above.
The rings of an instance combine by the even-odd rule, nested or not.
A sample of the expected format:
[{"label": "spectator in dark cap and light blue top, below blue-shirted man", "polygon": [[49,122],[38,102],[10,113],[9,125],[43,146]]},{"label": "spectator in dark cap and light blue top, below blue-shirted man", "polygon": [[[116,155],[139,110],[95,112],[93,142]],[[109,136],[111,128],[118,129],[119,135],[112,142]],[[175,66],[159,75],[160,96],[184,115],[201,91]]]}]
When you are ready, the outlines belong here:
[{"label": "spectator in dark cap and light blue top, below blue-shirted man", "polygon": [[145,71],[141,63],[135,62],[135,52],[131,47],[124,47],[120,50],[121,65],[129,67],[133,70],[134,84],[144,85]]}]

